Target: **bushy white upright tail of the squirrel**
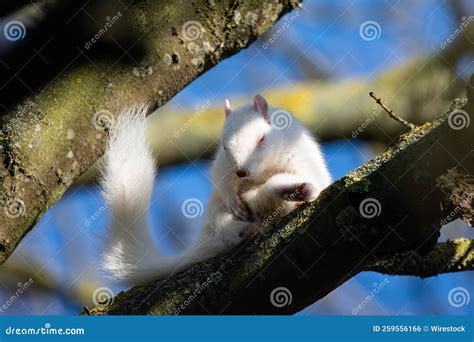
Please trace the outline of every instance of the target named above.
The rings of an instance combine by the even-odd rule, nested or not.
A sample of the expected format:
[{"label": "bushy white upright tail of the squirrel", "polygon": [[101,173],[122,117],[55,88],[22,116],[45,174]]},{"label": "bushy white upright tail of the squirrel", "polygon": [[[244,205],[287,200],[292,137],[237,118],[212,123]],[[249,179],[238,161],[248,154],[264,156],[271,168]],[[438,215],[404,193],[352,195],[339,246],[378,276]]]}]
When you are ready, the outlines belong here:
[{"label": "bushy white upright tail of the squirrel", "polygon": [[153,280],[171,262],[160,255],[148,227],[155,162],[147,141],[147,111],[141,106],[121,113],[105,151],[102,187],[111,218],[103,268],[124,285]]}]

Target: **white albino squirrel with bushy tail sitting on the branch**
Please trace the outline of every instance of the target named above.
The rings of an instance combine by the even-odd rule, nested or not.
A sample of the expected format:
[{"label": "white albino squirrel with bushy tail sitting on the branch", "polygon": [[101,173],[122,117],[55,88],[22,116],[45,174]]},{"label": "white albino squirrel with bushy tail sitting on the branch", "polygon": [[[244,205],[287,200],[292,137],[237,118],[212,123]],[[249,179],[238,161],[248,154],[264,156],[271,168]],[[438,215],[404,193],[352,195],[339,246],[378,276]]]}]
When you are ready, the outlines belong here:
[{"label": "white albino squirrel with bushy tail sitting on the branch", "polygon": [[146,107],[123,112],[105,152],[102,186],[111,222],[103,267],[124,285],[157,280],[228,250],[314,200],[331,182],[318,143],[289,112],[269,108],[261,95],[238,109],[226,100],[200,237],[181,255],[162,255],[148,227],[155,163],[146,112]]}]

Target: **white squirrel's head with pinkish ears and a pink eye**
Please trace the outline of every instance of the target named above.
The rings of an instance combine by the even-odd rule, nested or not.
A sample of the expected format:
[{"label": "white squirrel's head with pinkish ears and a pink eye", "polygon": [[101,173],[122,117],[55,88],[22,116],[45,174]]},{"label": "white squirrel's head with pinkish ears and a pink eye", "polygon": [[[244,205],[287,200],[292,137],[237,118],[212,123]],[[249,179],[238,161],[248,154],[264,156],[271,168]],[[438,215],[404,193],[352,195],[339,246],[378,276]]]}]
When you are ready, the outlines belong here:
[{"label": "white squirrel's head with pinkish ears and a pink eye", "polygon": [[261,95],[252,105],[233,109],[225,102],[226,121],[222,130],[222,148],[238,177],[254,177],[271,159],[268,147],[275,135],[270,125],[269,106]]}]

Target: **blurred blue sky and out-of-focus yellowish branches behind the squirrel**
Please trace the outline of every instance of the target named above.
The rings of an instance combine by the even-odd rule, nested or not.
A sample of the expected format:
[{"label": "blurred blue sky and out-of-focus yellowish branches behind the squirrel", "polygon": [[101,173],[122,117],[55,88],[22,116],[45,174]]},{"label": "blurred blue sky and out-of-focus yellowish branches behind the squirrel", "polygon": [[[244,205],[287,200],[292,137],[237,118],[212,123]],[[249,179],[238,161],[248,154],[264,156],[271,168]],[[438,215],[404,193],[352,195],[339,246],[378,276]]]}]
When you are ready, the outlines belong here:
[{"label": "blurred blue sky and out-of-focus yellowish branches behind the squirrel", "polygon": [[[205,136],[201,113],[223,115],[224,99],[242,103],[262,93],[271,103],[303,115],[305,123],[321,132],[331,174],[337,179],[396,141],[402,131],[393,123],[385,126],[389,120],[379,115],[366,88],[390,94],[384,101],[415,122],[444,113],[456,96],[462,96],[474,72],[473,15],[474,3],[468,0],[305,0],[302,9],[287,14],[248,49],[199,77],[153,114],[151,137],[159,140],[165,135],[162,123],[169,115],[195,118],[190,130]],[[436,84],[441,86],[433,90]],[[362,90],[354,93],[356,89]],[[346,111],[364,115],[351,116],[353,128],[344,131],[339,118]],[[175,140],[186,135],[174,133]],[[217,135],[207,139],[215,144]],[[185,149],[194,142],[188,137],[181,145],[168,143]],[[193,154],[187,162],[160,168],[150,216],[157,244],[166,253],[179,253],[198,235],[203,216],[185,217],[182,206],[191,198],[206,205],[211,184],[210,161],[205,158],[211,152],[204,146],[204,158],[194,160]],[[0,314],[74,315],[92,305],[104,288],[114,294],[123,290],[98,273],[97,236],[107,220],[100,189],[86,177],[0,266]],[[460,236],[474,238],[472,229],[456,221],[443,228],[440,239]],[[452,298],[457,288],[464,289],[461,305]],[[423,280],[366,272],[301,314],[466,315],[474,314],[470,296],[474,272]]]}]

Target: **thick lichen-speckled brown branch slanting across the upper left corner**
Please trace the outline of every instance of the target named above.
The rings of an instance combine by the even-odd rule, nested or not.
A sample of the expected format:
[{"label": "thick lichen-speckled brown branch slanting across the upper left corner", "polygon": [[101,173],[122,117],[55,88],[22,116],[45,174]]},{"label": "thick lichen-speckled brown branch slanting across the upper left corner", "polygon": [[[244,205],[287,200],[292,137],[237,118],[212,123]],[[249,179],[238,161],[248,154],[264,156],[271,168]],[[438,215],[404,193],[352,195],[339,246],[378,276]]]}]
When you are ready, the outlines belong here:
[{"label": "thick lichen-speckled brown branch slanting across the upper left corner", "polygon": [[[62,49],[54,45],[56,36],[38,47],[43,59],[51,58],[48,66],[42,62],[31,70],[33,62],[22,61],[17,53],[7,60],[11,66],[5,72],[15,68],[18,72],[8,78],[2,70],[0,263],[103,153],[106,131],[116,113],[133,103],[149,103],[152,108],[163,105],[201,73],[248,46],[299,1],[147,0],[126,8],[118,3],[116,12],[99,11],[103,16],[97,19],[99,27],[110,24],[110,31],[126,22],[127,32],[139,38],[130,49],[122,48],[118,58],[106,59],[85,47],[106,39],[100,34],[92,42],[98,31],[87,40],[73,40],[77,45],[72,45],[71,55],[61,50],[71,59],[61,60],[67,68],[45,76],[46,84],[38,84],[35,78],[44,76],[43,69],[53,64],[62,65],[55,60]],[[82,13],[81,6],[89,1],[75,4]],[[61,21],[68,18],[56,19],[50,21],[56,35],[70,30],[69,22]],[[115,43],[117,48],[120,44]],[[136,45],[141,48],[139,58],[131,51]],[[24,64],[19,67],[16,58]],[[14,107],[9,100],[17,91],[36,95]]]}]

